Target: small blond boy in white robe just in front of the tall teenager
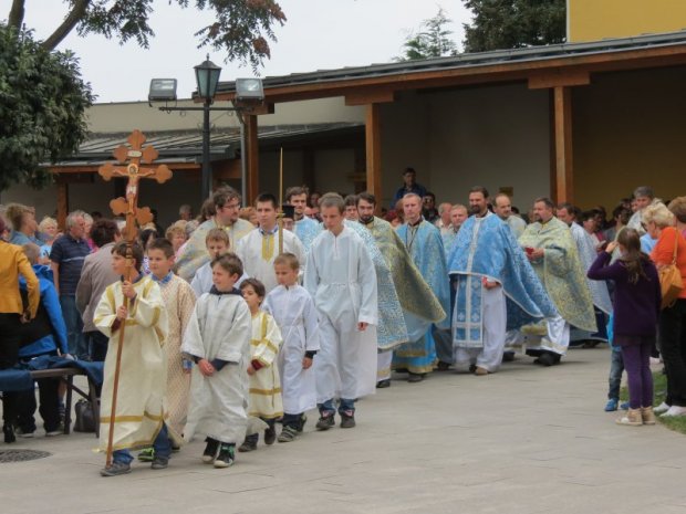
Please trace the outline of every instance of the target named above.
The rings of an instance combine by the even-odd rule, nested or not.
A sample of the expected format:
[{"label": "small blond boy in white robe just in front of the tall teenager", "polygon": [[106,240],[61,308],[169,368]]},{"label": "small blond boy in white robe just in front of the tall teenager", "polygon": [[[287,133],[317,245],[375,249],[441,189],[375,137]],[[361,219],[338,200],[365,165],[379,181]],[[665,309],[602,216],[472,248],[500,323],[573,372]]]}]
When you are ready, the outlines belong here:
[{"label": "small blond boy in white robe just in front of the tall teenager", "polygon": [[290,442],[302,432],[304,412],[316,407],[316,380],[312,359],[320,348],[316,308],[306,290],[298,285],[298,258],[282,253],[274,259],[279,285],[264,300],[283,336],[279,353],[283,397],[283,430],[279,442]]}]

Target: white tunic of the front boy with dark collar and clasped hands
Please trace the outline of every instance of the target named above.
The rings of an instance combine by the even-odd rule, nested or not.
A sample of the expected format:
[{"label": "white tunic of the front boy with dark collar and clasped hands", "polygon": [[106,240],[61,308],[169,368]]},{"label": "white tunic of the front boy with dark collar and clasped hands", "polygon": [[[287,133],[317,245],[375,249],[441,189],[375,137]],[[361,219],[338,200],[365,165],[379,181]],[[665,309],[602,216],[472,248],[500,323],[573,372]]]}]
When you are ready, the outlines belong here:
[{"label": "white tunic of the front boy with dark collar and clasped hands", "polygon": [[240,442],[248,421],[248,364],[252,317],[239,294],[204,294],[184,336],[181,352],[226,360],[221,370],[205,377],[197,366],[190,378],[188,421],[184,438],[196,433],[220,442]]}]

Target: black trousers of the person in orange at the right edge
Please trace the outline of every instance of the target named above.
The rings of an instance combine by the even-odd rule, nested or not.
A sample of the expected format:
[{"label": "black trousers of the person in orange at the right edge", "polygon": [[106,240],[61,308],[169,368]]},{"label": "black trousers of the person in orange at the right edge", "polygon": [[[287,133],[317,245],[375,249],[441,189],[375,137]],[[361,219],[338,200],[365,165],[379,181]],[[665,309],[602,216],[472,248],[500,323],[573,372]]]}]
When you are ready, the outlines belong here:
[{"label": "black trousers of the person in orange at the right edge", "polygon": [[659,313],[659,352],[667,371],[665,402],[686,407],[686,298]]}]

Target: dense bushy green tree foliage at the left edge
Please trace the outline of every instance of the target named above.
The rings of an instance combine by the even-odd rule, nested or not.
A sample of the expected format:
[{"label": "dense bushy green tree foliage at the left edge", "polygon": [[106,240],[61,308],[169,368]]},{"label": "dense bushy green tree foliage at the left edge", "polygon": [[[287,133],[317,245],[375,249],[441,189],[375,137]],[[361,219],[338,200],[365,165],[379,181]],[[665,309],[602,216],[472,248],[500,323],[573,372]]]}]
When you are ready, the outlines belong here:
[{"label": "dense bushy green tree foliage at the left edge", "polygon": [[48,183],[41,165],[79,149],[92,103],[72,53],[48,51],[31,32],[0,23],[0,191]]}]

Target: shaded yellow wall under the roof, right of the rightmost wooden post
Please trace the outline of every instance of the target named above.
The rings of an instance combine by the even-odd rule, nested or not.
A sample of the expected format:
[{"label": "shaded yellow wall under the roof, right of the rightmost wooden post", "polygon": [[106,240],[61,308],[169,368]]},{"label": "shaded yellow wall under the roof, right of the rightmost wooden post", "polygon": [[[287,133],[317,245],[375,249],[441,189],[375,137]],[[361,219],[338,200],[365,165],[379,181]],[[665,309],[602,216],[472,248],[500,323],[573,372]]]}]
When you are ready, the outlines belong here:
[{"label": "shaded yellow wall under the roof, right of the rightmost wooden post", "polygon": [[686,66],[594,75],[575,87],[574,202],[612,210],[637,186],[686,195]]}]

